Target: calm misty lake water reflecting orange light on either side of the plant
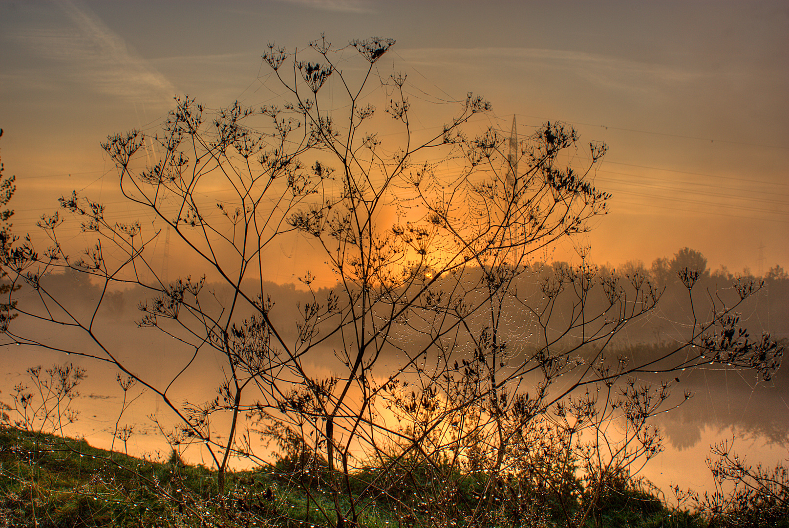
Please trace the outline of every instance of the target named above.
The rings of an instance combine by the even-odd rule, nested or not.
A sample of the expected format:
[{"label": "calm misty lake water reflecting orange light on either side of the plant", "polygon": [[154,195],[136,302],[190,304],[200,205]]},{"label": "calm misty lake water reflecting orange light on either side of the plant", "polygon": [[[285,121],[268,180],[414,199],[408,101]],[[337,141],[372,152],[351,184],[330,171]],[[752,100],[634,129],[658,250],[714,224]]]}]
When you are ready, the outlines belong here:
[{"label": "calm misty lake water reflecting orange light on either side of the plant", "polygon": [[[144,343],[143,343],[144,344]],[[139,346],[140,343],[136,343]],[[28,349],[25,346],[8,346],[2,350],[2,373],[0,373],[0,400],[8,400],[8,391],[13,384],[24,380],[19,373],[31,365],[51,365],[62,363],[62,354]],[[159,354],[156,361],[162,365],[174,363],[176,358]],[[173,360],[173,361],[170,361]],[[151,358],[137,358],[136,365],[146,370],[151,379],[159,380],[168,373],[160,365],[151,367]],[[122,406],[122,390],[115,381],[114,371],[95,361],[75,358],[75,362],[87,366],[88,377],[80,386],[80,397],[74,407],[80,410],[80,419],[65,429],[69,435],[84,436],[89,444],[109,448],[116,421],[123,425],[133,425],[134,434],[129,438],[129,455],[148,455],[156,458],[157,453],[166,457],[169,447],[164,442],[159,427],[151,421],[158,414],[167,428],[170,423],[166,408],[151,394],[145,392],[132,406],[124,411],[120,420],[118,414]],[[207,363],[211,361],[207,360]],[[217,365],[218,361],[214,362]],[[173,367],[174,368],[174,367]],[[178,401],[189,399],[203,402],[215,396],[215,382],[219,378],[204,370],[202,377],[195,373],[187,375],[182,383],[176,384],[173,394]],[[664,436],[664,451],[649,461],[641,475],[652,481],[671,501],[669,486],[679,485],[682,489],[712,491],[714,481],[709,472],[706,459],[710,446],[720,441],[733,440],[733,451],[756,465],[775,466],[789,460],[789,384],[785,383],[782,372],[769,384],[755,384],[754,380],[733,370],[697,369],[683,373],[679,388],[672,396],[682,399],[682,389],[691,391],[694,396],[678,409],[658,415],[653,423]],[[140,395],[140,387],[129,391],[129,399]],[[675,400],[670,400],[675,401]],[[123,451],[123,443],[115,440],[114,449]],[[210,465],[207,452],[195,447],[187,452],[190,462],[205,462]]]}]

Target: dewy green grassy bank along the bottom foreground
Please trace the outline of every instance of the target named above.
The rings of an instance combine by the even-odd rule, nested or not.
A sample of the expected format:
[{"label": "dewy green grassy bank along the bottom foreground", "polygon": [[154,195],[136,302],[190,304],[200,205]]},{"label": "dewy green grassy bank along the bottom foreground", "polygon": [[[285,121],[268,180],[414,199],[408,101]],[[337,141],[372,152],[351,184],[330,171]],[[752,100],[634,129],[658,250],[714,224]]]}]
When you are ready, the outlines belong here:
[{"label": "dewy green grassy bank along the bottom foreground", "polygon": [[[332,506],[322,498],[320,467],[311,492],[288,484],[299,468],[284,458],[266,470],[229,474],[220,493],[214,470],[184,464],[175,452],[165,459],[136,459],[84,440],[0,429],[0,526],[335,526]],[[351,485],[363,494],[377,474],[368,467]],[[424,512],[433,511],[428,502],[440,500],[440,483],[409,471],[389,496],[370,497],[376,505],[358,526],[464,526],[457,519],[477,505],[484,480],[469,476],[443,505],[445,518],[435,519]],[[488,502],[487,526],[564,526],[552,493],[523,484],[499,483]],[[576,508],[589,500],[580,482],[568,482],[563,492]],[[661,502],[644,481],[612,482],[598,509],[600,526],[708,526],[701,515]],[[595,522],[589,519],[587,526]]]}]

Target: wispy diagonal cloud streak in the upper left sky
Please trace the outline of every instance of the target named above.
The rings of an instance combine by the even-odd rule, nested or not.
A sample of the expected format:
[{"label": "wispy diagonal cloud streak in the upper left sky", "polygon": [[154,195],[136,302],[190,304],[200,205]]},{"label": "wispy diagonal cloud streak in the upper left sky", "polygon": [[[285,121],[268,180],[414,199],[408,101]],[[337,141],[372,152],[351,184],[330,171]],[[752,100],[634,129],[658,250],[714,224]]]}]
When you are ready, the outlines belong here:
[{"label": "wispy diagonal cloud streak in the upper left sky", "polygon": [[61,62],[68,76],[95,92],[133,102],[165,103],[176,89],[148,61],[84,6],[58,2],[70,28],[32,29],[17,33],[47,58]]}]

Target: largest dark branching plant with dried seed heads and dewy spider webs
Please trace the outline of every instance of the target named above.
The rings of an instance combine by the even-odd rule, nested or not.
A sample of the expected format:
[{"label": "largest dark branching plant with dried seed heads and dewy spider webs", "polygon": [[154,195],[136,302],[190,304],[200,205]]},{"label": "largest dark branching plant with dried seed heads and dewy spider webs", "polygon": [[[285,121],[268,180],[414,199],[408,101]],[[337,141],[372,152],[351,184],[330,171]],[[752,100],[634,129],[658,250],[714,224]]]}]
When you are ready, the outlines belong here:
[{"label": "largest dark branching plant with dried seed heads and dewy spider webs", "polygon": [[[778,367],[783,346],[768,335],[750,341],[733,312],[761,285],[741,281],[701,317],[699,271],[684,268],[678,279],[692,324],[676,346],[659,358],[609,354],[662,290],[640,269],[601,272],[588,249],[579,249],[578,266],[531,267],[535,255],[608,211],[610,195],[589,178],[606,146],[588,144],[588,163],[574,168],[560,160],[581,148],[580,138],[563,123],[522,140],[493,127],[469,137],[462,127],[491,109],[471,93],[436,133],[417,131],[406,75],[383,77],[376,66],[393,45],[372,38],[335,48],[322,37],[289,53],[270,44],[263,60],[284,94],[279,102],[212,112],[178,98],[153,136],[109,137],[103,148],[122,193],[166,224],[199,260],[196,273],[166,281],[151,258],[160,231],[114,223],[102,204],[75,192],[39,223],[53,241],[47,250],[25,239],[4,245],[0,258],[13,287],[36,292],[13,299],[20,319],[67,324],[97,351],[45,341],[16,323],[4,333],[9,343],[107,361],[158,395],[177,422],[170,432],[155,418],[173,452],[208,453],[228,522],[263,512],[348,528],[379,501],[400,526],[551,520],[529,497],[554,505],[552,519],[567,526],[599,524],[611,490],[621,492],[661,449],[649,418],[665,410],[674,382],[635,376],[671,378],[725,362],[768,379]],[[368,103],[370,84],[383,92],[383,112]],[[137,168],[148,141],[162,153]],[[65,212],[96,238],[77,259],[59,242]],[[264,283],[264,251],[284,236],[316,245],[325,262],[318,269],[337,279],[319,289],[317,271],[301,277],[310,299],[292,327],[276,322]],[[58,270],[100,285],[87,315],[47,286]],[[230,298],[206,290],[207,271],[230,286]],[[115,283],[148,291],[140,328],[189,347],[178,376],[207,350],[223,358],[214,399],[181,403],[171,395],[178,376],[160,385],[143,379],[94,331]],[[275,440],[279,464],[261,452],[260,436]],[[260,503],[247,487],[229,489],[234,458],[275,470],[284,489],[306,497],[304,515],[293,504],[281,511]],[[188,506],[146,478],[179,514]],[[264,505],[252,511],[255,502]]]}]

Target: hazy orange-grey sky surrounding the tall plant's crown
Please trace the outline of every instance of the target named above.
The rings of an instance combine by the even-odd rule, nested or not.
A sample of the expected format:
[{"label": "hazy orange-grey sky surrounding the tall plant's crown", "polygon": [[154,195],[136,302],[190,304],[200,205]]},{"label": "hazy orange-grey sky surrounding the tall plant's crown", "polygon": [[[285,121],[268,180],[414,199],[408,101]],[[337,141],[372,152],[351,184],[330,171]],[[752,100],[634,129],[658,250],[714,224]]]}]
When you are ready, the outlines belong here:
[{"label": "hazy orange-grey sky surrounding the tall plant's crown", "polygon": [[575,242],[597,262],[649,265],[688,246],[713,269],[789,267],[786,2],[4,0],[15,231],[35,232],[73,189],[123,210],[107,135],[155,127],[174,95],[265,103],[266,43],[301,49],[321,32],[396,39],[380,68],[432,95],[481,93],[499,129],[561,120],[605,141],[594,178],[611,213]]}]

